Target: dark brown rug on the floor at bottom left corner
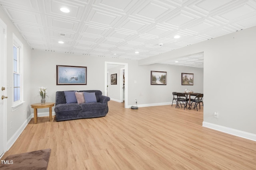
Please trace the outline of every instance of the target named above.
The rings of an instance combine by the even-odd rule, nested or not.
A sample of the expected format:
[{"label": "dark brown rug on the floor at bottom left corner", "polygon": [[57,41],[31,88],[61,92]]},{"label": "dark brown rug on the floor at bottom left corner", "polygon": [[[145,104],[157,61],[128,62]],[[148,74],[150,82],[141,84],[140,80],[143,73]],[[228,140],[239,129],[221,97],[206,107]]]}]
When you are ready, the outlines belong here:
[{"label": "dark brown rug on the floor at bottom left corner", "polygon": [[47,170],[51,149],[13,154],[1,160],[0,170]]}]

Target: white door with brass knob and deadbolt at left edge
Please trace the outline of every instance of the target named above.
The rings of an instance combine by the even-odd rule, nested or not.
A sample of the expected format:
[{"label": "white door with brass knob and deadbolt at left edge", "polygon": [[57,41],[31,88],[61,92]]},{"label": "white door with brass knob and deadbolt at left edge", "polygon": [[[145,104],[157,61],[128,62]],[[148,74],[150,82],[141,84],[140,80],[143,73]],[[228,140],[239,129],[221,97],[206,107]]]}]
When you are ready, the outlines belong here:
[{"label": "white door with brass knob and deadbolt at left edge", "polygon": [[6,151],[6,68],[6,25],[0,20],[0,158]]}]

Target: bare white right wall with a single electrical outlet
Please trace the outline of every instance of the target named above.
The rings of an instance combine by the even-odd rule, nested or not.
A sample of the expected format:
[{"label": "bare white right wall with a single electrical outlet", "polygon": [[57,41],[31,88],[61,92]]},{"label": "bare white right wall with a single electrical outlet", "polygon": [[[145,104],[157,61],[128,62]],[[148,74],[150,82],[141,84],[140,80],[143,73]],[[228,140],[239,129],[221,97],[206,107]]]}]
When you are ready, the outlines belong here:
[{"label": "bare white right wall with a single electrical outlet", "polygon": [[208,41],[204,52],[204,122],[256,134],[256,27]]}]

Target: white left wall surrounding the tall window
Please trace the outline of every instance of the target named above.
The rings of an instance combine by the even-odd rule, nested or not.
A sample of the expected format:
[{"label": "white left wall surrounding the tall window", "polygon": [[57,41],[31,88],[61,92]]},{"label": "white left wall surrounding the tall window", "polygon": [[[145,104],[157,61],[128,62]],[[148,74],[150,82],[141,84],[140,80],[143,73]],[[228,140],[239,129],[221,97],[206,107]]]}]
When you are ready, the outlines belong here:
[{"label": "white left wall surrounding the tall window", "polygon": [[[0,8],[0,18],[7,25],[7,96],[5,100],[7,102],[7,149],[14,143],[18,138],[24,127],[27,125],[28,121],[31,119],[30,115],[30,82],[32,80],[30,76],[30,66],[31,66],[31,49],[20,35],[18,30],[14,27],[12,22]],[[23,44],[23,70],[24,70],[24,103],[21,107],[14,110],[12,109],[13,93],[13,34],[22,42]]]}]

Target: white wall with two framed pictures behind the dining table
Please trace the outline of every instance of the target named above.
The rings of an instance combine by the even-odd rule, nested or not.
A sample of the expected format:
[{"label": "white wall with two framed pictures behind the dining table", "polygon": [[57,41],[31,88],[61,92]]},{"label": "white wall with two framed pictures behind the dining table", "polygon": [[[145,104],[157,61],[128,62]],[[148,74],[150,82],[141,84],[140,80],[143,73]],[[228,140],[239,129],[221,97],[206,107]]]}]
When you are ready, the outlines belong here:
[{"label": "white wall with two framed pictures behind the dining table", "polygon": [[[166,85],[150,85],[151,71],[167,72]],[[194,86],[181,85],[182,72],[194,73]],[[138,106],[170,104],[172,102],[172,92],[184,92],[186,88],[194,92],[203,93],[202,68],[151,64],[129,70],[128,91],[131,104],[135,104],[135,99],[138,101]]]}]

